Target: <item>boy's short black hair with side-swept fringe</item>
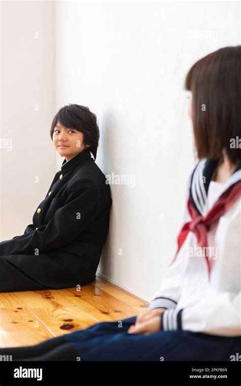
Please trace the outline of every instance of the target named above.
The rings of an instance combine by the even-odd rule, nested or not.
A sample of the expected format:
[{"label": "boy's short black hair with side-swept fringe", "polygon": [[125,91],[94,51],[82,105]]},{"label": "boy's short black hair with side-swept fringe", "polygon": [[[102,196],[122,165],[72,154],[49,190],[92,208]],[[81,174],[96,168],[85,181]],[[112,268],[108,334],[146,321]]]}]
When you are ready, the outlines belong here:
[{"label": "boy's short black hair with side-swept fringe", "polygon": [[51,123],[51,139],[53,139],[53,131],[57,122],[64,127],[74,128],[78,132],[83,133],[83,144],[89,145],[89,150],[91,150],[94,155],[94,159],[96,159],[100,131],[97,123],[97,117],[88,109],[88,107],[72,104],[62,107],[57,112]]}]

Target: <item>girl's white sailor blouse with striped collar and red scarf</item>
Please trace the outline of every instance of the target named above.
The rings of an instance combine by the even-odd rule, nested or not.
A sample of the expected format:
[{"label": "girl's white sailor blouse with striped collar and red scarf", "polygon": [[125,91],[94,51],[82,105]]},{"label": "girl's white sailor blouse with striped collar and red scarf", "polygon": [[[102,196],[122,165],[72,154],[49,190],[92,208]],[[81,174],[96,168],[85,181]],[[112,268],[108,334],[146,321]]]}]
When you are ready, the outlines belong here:
[{"label": "girl's white sailor blouse with striped collar and red scarf", "polygon": [[166,308],[161,329],[241,335],[241,163],[225,183],[211,181],[216,160],[190,178],[178,249],[149,309]]}]

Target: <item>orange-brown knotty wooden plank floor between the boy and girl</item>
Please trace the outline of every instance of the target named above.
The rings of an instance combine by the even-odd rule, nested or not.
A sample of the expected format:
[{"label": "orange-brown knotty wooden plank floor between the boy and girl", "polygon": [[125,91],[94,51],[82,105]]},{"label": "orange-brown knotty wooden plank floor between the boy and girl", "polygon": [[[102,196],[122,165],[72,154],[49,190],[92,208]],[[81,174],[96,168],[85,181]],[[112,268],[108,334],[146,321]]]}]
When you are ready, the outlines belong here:
[{"label": "orange-brown knotty wooden plank floor between the boy and girl", "polygon": [[0,293],[0,347],[27,346],[99,321],[143,313],[148,303],[97,276],[74,288]]}]

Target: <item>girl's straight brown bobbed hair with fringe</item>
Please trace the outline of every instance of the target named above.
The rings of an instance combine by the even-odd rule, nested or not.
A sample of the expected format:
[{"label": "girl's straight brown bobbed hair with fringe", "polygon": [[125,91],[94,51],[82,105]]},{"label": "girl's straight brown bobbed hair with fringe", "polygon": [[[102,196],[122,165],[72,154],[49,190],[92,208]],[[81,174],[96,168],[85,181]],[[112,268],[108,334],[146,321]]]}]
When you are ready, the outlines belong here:
[{"label": "girl's straight brown bobbed hair with fringe", "polygon": [[199,158],[222,159],[222,150],[234,164],[240,149],[230,140],[240,136],[241,46],[224,47],[198,60],[185,80],[192,91],[192,120]]}]

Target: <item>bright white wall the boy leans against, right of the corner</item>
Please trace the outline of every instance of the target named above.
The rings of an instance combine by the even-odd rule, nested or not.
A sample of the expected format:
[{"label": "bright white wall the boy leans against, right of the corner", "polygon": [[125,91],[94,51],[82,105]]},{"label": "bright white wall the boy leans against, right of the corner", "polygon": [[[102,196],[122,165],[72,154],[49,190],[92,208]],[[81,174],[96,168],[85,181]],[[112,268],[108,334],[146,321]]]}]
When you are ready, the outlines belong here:
[{"label": "bright white wall the boy leans against, right of the corner", "polygon": [[111,186],[99,273],[146,300],[176,250],[194,164],[185,74],[238,39],[235,2],[56,3],[56,108],[92,109],[97,164],[105,174],[136,176],[135,187]]}]

